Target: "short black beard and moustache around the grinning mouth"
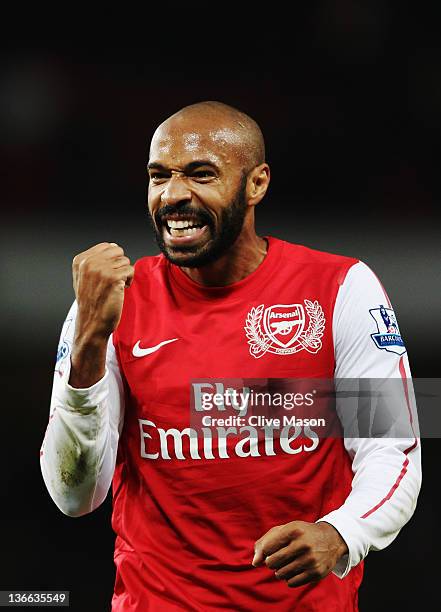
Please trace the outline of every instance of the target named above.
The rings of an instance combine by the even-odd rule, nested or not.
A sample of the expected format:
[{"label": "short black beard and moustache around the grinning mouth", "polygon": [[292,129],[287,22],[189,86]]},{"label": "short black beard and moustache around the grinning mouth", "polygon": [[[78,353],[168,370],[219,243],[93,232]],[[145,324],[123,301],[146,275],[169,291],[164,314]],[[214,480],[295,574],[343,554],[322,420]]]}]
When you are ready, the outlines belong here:
[{"label": "short black beard and moustache around the grinning mouth", "polygon": [[[233,246],[242,231],[247,211],[246,184],[247,177],[244,174],[233,199],[228,206],[222,209],[217,229],[212,216],[204,208],[199,209],[186,202],[182,205],[167,204],[155,213],[154,218],[148,211],[156,242],[165,257],[171,263],[186,268],[201,268],[222,257]],[[196,216],[201,224],[207,225],[209,230],[208,240],[201,245],[167,246],[162,237],[165,226],[163,219],[173,213]]]}]

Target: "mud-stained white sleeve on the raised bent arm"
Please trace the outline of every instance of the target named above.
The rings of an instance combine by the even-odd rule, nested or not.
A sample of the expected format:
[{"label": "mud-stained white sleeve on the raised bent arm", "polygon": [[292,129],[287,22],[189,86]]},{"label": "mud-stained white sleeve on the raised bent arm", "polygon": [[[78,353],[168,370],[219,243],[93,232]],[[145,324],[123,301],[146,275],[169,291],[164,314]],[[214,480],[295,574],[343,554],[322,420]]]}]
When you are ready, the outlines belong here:
[{"label": "mud-stained white sleeve on the raised bent arm", "polygon": [[61,331],[49,423],[40,450],[46,487],[68,516],[92,512],[106,498],[124,418],[123,383],[112,337],[104,377],[88,389],[68,384],[76,314],[74,302]]}]

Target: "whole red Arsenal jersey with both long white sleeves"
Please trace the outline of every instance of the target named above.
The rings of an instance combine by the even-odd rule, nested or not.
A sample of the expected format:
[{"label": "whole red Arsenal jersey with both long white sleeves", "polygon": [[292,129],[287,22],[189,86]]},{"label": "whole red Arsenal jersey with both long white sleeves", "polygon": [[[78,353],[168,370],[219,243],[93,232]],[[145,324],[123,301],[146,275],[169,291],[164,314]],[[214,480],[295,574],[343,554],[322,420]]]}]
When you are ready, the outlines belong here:
[{"label": "whole red Arsenal jersey with both long white sleeves", "polygon": [[[197,381],[333,377],[402,379],[415,423],[405,347],[375,275],[355,259],[268,243],[258,268],[225,287],[193,282],[162,255],[141,259],[106,374],[88,389],[68,383],[76,304],[63,326],[41,467],[70,516],[93,511],[113,481],[115,612],[357,610],[364,557],[414,511],[414,437],[194,425]],[[81,479],[66,480],[72,445]],[[252,558],[257,539],[294,520],[327,521],[349,552],[323,580],[289,588]]]}]

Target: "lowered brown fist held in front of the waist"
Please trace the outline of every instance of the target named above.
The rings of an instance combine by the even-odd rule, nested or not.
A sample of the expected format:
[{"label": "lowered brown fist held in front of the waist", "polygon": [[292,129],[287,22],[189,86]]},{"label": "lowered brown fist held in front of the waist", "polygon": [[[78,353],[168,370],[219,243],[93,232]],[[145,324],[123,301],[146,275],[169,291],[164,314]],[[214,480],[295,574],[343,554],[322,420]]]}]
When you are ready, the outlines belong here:
[{"label": "lowered brown fist held in front of the waist", "polygon": [[329,523],[293,521],[257,540],[253,565],[265,564],[276,578],[296,587],[327,576],[347,552],[346,542]]}]

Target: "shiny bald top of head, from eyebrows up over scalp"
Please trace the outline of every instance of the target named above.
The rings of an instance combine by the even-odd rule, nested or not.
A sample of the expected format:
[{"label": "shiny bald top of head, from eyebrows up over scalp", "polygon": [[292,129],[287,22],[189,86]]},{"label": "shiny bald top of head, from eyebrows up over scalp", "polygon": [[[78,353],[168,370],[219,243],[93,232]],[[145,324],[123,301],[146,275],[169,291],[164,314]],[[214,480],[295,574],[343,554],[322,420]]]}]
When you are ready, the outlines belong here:
[{"label": "shiny bald top of head, from eyebrows up over scalp", "polygon": [[176,145],[186,152],[209,147],[220,154],[232,151],[246,171],[265,161],[263,135],[257,123],[221,102],[192,104],[166,119],[157,128],[152,147],[167,154]]}]

